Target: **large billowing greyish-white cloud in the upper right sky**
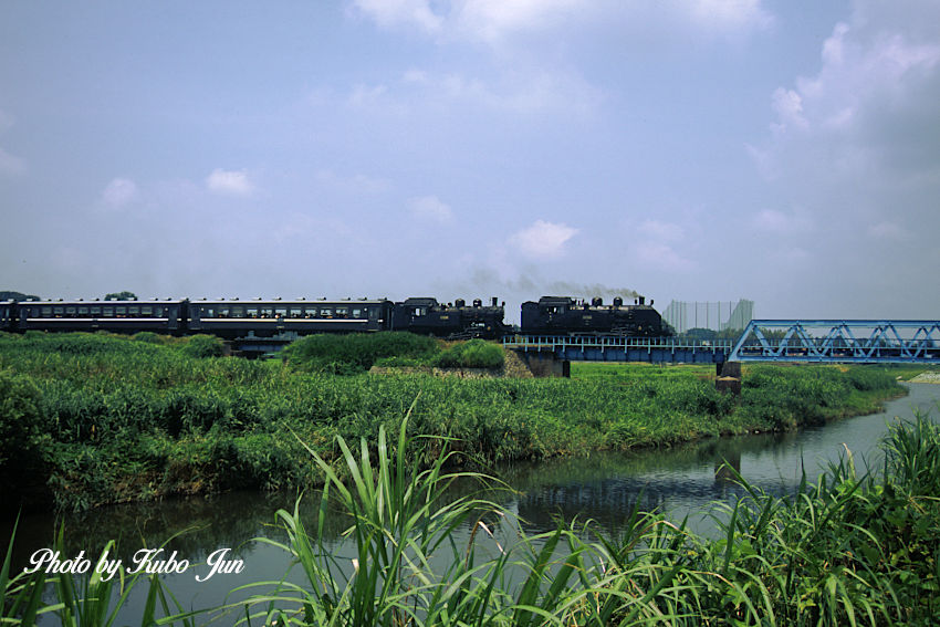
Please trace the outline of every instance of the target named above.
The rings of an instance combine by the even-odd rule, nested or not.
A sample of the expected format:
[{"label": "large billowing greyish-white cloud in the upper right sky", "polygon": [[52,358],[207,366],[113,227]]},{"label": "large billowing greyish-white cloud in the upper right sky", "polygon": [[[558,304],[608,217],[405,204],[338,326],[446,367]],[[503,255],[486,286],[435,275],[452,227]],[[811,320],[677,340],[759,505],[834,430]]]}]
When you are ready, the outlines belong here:
[{"label": "large billowing greyish-white cloud in the upper right sky", "polygon": [[940,229],[940,31],[926,28],[937,23],[937,2],[855,0],[821,45],[818,71],[773,92],[769,139],[748,146],[774,196],[800,207],[764,209],[752,227],[856,255],[823,236],[850,228],[898,257],[926,255],[911,242],[930,245]]}]

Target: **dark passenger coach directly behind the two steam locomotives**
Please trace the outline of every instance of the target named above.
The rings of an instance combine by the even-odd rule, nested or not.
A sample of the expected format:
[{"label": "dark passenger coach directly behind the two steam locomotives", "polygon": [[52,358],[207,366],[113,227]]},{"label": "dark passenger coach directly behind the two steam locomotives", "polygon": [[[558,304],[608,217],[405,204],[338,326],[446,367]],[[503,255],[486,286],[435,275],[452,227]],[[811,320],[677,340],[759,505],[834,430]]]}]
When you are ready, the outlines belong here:
[{"label": "dark passenger coach directly behind the two steam locomotives", "polygon": [[391,303],[361,301],[190,301],[189,331],[226,338],[272,337],[282,333],[385,331]]}]

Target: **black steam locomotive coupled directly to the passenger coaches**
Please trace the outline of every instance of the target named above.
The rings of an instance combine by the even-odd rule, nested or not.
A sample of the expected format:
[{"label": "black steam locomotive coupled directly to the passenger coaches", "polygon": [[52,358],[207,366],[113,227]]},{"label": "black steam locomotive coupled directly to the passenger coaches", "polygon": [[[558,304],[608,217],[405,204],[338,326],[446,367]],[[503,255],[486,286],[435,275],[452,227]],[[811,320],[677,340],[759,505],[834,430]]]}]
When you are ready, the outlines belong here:
[{"label": "black steam locomotive coupled directly to the passenger coaches", "polygon": [[502,337],[508,331],[503,324],[504,306],[493,299],[488,306],[474,299],[468,306],[463,299],[453,303],[438,303],[434,297],[406,299],[395,303],[391,312],[391,331],[410,331],[421,335],[449,338]]}]

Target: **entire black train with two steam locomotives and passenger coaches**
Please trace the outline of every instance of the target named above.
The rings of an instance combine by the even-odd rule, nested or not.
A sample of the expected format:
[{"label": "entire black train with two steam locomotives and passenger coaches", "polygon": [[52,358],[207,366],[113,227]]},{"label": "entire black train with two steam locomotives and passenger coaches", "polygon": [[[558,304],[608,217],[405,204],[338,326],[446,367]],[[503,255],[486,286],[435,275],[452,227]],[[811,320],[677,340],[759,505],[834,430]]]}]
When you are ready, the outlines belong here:
[{"label": "entire black train with two steam locomotives and passenger coaches", "polygon": [[13,301],[0,302],[0,331],[108,331],[185,335],[208,333],[227,339],[296,337],[314,333],[409,331],[447,338],[498,339],[520,332],[535,335],[660,336],[668,327],[643,297],[625,305],[614,299],[578,301],[542,296],[522,304],[519,330],[503,323],[505,303],[476,299],[439,303],[434,297],[342,301]]}]

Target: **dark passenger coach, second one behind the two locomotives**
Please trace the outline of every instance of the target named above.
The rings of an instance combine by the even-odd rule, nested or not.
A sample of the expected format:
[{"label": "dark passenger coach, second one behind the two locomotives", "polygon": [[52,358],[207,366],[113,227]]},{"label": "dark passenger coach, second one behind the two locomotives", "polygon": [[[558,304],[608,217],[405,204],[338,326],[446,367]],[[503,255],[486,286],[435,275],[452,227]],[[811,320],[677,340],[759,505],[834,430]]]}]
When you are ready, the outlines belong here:
[{"label": "dark passenger coach, second one behind the two locomotives", "polygon": [[186,331],[186,301],[25,301],[19,331],[109,331],[178,334]]}]

